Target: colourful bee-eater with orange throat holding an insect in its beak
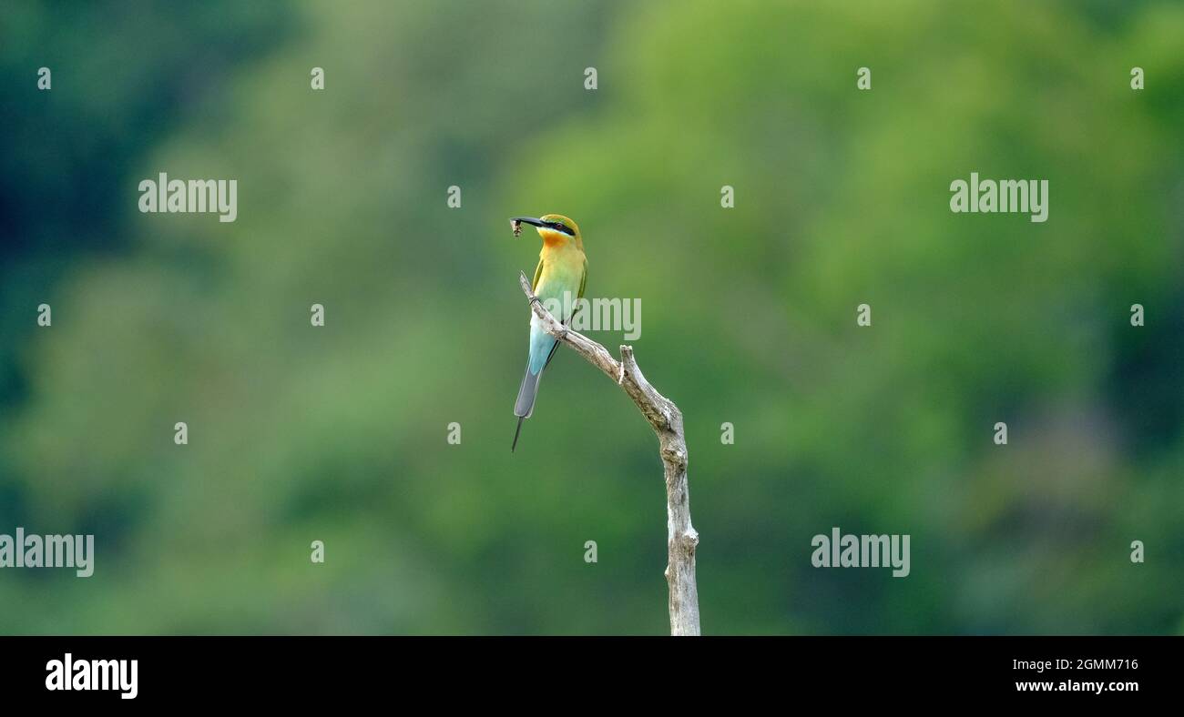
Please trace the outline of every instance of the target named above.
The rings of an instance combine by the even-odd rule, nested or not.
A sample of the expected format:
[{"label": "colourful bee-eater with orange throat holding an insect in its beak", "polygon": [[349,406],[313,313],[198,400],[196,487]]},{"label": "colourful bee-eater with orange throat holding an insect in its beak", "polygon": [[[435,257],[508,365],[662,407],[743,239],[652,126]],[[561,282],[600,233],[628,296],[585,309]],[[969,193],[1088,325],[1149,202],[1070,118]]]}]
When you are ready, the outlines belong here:
[{"label": "colourful bee-eater with orange throat holding an insect in its beak", "polygon": [[[577,303],[566,299],[564,295],[584,297],[584,284],[588,274],[588,260],[584,256],[584,239],[580,237],[580,228],[575,222],[559,214],[545,214],[539,219],[533,217],[515,217],[515,234],[520,224],[529,224],[542,237],[542,251],[539,252],[539,266],[534,270],[534,280],[530,288],[543,305],[548,301],[559,302],[562,311],[575,312]],[[570,305],[568,305],[570,304]],[[556,316],[564,325],[572,319],[572,316]],[[530,312],[530,353],[526,362],[526,375],[522,376],[522,387],[519,388],[519,398],[514,403],[514,415],[519,418],[517,428],[514,429],[514,443],[510,452],[517,447],[517,437],[522,431],[522,421],[534,413],[534,399],[539,393],[539,381],[542,379],[542,369],[547,368],[551,358],[559,349],[559,341],[547,334],[542,328],[542,322]]]}]

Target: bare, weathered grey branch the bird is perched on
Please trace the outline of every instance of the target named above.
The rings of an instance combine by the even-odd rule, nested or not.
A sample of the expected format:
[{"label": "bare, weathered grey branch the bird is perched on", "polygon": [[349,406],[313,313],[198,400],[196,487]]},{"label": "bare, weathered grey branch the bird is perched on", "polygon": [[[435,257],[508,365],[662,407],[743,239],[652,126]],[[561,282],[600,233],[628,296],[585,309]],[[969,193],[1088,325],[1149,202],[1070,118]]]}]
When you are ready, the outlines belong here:
[{"label": "bare, weathered grey branch the bird is perched on", "polygon": [[559,323],[530,290],[526,274],[520,274],[522,291],[530,308],[542,321],[542,328],[570,345],[588,363],[599,368],[620,386],[658,437],[658,452],[667,484],[665,576],[670,587],[670,634],[699,634],[699,588],[695,586],[695,548],[699,534],[690,524],[690,498],[687,492],[687,439],[682,429],[682,412],[674,401],[650,386],[633,358],[633,347],[620,347],[620,361],[609,349],[587,336]]}]

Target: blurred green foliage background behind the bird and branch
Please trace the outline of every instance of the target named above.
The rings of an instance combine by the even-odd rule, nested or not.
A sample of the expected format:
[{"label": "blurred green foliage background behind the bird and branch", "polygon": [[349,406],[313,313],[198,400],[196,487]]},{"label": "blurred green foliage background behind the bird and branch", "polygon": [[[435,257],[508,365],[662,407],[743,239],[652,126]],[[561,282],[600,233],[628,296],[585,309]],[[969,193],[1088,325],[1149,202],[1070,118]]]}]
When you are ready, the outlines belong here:
[{"label": "blurred green foliage background behind the bird and branch", "polygon": [[[664,632],[628,399],[560,355],[508,450],[506,219],[546,212],[642,299],[706,633],[1184,632],[1178,5],[117,7],[2,30],[0,532],[97,557],[0,573],[0,632]],[[139,214],[160,170],[238,220]],[[1048,179],[1049,221],[952,214],[971,172]],[[832,525],[912,575],[812,568]]]}]

